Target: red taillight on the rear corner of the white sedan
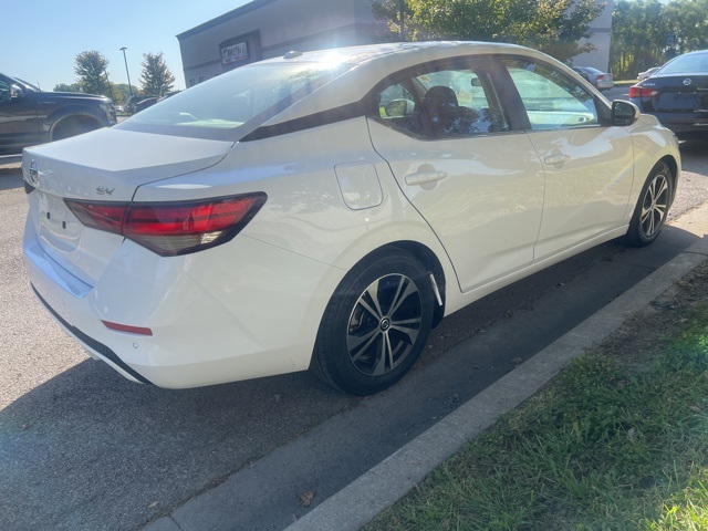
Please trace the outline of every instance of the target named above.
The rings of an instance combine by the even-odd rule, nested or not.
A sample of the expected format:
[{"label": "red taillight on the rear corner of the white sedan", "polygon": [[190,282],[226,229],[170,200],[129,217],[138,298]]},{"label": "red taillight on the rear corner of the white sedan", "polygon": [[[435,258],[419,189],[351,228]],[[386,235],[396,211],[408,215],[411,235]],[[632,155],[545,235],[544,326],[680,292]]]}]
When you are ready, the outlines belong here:
[{"label": "red taillight on the rear corner of the white sedan", "polygon": [[162,257],[175,257],[231,240],[267,198],[256,192],[185,202],[65,202],[86,227],[122,235]]}]

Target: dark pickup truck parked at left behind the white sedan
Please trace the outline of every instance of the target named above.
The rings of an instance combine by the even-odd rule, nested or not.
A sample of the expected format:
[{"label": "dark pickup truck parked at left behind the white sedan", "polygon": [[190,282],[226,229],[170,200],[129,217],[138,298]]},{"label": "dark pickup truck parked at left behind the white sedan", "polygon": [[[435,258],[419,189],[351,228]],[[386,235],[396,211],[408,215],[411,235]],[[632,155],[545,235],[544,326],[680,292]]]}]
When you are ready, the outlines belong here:
[{"label": "dark pickup truck parked at left behind the white sedan", "polygon": [[0,155],[59,140],[116,123],[105,96],[42,92],[17,77],[0,74]]}]

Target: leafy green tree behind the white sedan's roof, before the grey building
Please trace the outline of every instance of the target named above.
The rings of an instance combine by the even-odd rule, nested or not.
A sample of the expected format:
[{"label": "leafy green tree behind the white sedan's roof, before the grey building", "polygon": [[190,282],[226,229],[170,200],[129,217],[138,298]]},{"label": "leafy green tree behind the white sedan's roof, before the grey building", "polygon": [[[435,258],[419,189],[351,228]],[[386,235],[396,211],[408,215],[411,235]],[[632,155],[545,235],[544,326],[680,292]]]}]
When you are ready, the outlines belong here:
[{"label": "leafy green tree behind the white sedan's roof, before the grey building", "polygon": [[[708,0],[707,0],[708,1]],[[402,9],[403,8],[403,9]],[[502,41],[537,48],[561,61],[594,50],[582,39],[604,6],[594,0],[375,0],[372,11],[408,40]]]}]

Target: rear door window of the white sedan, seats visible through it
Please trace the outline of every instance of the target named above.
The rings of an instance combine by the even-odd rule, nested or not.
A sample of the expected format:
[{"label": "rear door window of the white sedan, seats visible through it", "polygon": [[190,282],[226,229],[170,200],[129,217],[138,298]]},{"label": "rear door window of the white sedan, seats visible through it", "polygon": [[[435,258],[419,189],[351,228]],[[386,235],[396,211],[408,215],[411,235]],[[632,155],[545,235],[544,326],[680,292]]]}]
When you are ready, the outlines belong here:
[{"label": "rear door window of the white sedan, seats visible through it", "polygon": [[381,119],[416,136],[468,137],[509,131],[509,121],[481,69],[430,65],[379,93]]}]

